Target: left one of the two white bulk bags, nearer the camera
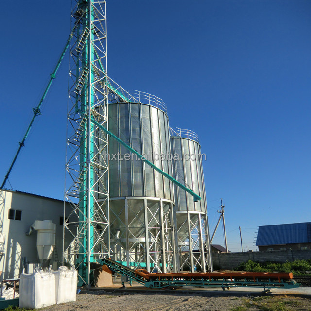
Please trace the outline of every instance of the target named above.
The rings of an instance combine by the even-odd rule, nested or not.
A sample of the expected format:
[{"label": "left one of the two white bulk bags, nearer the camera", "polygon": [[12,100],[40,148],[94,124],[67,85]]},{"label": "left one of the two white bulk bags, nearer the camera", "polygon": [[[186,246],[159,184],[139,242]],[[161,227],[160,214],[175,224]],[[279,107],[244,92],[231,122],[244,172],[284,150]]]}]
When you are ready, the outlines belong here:
[{"label": "left one of the two white bulk bags, nearer the camera", "polygon": [[43,308],[54,305],[55,276],[42,268],[32,274],[22,273],[19,282],[19,308]]}]

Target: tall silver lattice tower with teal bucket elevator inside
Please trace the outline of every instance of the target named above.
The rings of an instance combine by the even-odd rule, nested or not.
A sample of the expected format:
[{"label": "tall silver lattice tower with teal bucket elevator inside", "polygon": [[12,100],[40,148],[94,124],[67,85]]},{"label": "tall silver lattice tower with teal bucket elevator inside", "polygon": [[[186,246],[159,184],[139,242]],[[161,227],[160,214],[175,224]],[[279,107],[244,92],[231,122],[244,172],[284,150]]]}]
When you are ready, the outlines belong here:
[{"label": "tall silver lattice tower with teal bucket elevator inside", "polygon": [[91,122],[108,127],[106,2],[73,1],[71,18],[63,256],[82,285],[110,249],[108,136]]}]

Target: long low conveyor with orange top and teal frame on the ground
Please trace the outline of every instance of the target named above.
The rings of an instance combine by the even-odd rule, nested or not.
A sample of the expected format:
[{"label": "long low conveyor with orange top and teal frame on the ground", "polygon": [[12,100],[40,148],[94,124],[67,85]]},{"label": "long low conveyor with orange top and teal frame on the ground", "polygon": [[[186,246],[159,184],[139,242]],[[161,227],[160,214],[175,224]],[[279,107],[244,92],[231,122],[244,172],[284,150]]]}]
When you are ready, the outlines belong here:
[{"label": "long low conveyor with orange top and teal frame on the ground", "polygon": [[131,279],[150,288],[167,288],[180,286],[221,287],[232,286],[262,287],[264,289],[299,287],[293,280],[292,273],[257,273],[257,272],[207,272],[207,273],[150,273],[147,270],[133,270],[112,259],[103,259],[103,264],[113,272],[129,276]]}]

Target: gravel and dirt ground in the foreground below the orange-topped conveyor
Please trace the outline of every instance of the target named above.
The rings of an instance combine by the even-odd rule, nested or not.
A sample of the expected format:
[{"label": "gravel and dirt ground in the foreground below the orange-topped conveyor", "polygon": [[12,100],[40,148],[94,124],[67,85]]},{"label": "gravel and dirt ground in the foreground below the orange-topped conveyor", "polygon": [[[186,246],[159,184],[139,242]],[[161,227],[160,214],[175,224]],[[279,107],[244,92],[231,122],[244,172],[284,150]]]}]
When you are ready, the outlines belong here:
[{"label": "gravel and dirt ground in the foreground below the orange-topped conveyor", "polygon": [[220,293],[77,294],[77,301],[44,311],[311,311],[311,299],[282,296],[235,296]]}]

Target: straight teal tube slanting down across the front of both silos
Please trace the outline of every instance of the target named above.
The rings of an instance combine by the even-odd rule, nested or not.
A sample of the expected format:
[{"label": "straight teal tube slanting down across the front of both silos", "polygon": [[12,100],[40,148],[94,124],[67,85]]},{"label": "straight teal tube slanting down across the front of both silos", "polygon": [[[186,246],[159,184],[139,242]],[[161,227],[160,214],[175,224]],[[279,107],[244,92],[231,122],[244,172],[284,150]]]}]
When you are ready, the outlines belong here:
[{"label": "straight teal tube slanting down across the front of both silos", "polygon": [[112,134],[111,132],[109,132],[107,129],[104,128],[104,126],[102,126],[101,124],[99,124],[98,122],[96,122],[94,119],[92,119],[92,123],[95,124],[96,126],[98,126],[100,129],[102,129],[105,133],[107,133],[109,136],[111,136],[113,139],[117,140],[121,145],[123,145],[125,148],[127,148],[131,153],[137,155],[143,162],[145,162],[146,164],[148,164],[149,166],[151,166],[155,171],[159,172],[160,174],[162,174],[164,177],[168,178],[169,180],[171,180],[175,185],[177,185],[178,187],[180,187],[181,189],[185,190],[186,192],[190,193],[193,196],[193,200],[194,202],[200,201],[201,197],[199,195],[197,195],[196,193],[194,193],[191,189],[185,187],[182,183],[180,183],[179,181],[177,181],[175,178],[173,178],[172,176],[170,176],[168,173],[163,172],[161,169],[159,169],[157,166],[155,166],[153,163],[151,163],[150,161],[148,161],[145,157],[143,157],[142,155],[140,155],[136,150],[134,150],[133,148],[131,148],[129,145],[127,145],[124,141],[122,141],[120,138],[118,138],[117,136],[115,136],[114,134]]}]

